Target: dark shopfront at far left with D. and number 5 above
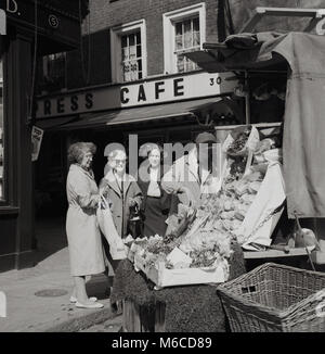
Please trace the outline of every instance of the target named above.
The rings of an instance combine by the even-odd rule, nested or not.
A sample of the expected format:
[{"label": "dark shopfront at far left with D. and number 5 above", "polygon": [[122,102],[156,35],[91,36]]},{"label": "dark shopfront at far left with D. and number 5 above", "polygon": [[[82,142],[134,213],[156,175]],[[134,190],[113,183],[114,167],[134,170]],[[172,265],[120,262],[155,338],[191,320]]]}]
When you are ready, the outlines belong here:
[{"label": "dark shopfront at far left with D. and number 5 above", "polygon": [[[80,3],[86,15],[86,1]],[[78,1],[1,1],[6,31],[0,46],[0,271],[32,265],[34,67],[41,55],[78,46]]]}]

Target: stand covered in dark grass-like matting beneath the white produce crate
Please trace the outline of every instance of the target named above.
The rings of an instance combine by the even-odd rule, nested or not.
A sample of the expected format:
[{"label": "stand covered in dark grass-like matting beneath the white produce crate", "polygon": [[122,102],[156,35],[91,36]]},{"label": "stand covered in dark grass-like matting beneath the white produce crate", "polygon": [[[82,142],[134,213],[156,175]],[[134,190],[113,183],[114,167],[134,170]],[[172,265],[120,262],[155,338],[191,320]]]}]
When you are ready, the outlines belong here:
[{"label": "stand covered in dark grass-like matting beneath the white produce crate", "polygon": [[[242,248],[230,262],[230,279],[246,273]],[[110,302],[123,302],[123,330],[129,332],[224,332],[227,325],[218,285],[196,285],[154,290],[129,260],[119,263]]]}]

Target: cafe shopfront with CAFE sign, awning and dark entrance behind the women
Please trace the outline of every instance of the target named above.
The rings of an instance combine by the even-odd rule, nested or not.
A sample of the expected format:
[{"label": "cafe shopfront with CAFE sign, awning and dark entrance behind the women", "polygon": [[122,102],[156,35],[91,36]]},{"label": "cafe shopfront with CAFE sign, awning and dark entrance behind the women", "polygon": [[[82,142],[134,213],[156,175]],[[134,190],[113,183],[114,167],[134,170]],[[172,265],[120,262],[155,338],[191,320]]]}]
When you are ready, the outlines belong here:
[{"label": "cafe shopfront with CAFE sign, awning and dark entrance behind the women", "polygon": [[75,141],[96,144],[93,169],[99,181],[107,143],[122,143],[130,155],[130,135],[136,136],[138,148],[145,142],[185,146],[202,130],[213,132],[214,125],[243,123],[235,121],[240,119],[240,100],[230,103],[234,81],[226,76],[220,87],[218,75],[196,72],[40,97],[36,124],[44,135],[36,163],[37,217],[65,215],[66,151]]}]

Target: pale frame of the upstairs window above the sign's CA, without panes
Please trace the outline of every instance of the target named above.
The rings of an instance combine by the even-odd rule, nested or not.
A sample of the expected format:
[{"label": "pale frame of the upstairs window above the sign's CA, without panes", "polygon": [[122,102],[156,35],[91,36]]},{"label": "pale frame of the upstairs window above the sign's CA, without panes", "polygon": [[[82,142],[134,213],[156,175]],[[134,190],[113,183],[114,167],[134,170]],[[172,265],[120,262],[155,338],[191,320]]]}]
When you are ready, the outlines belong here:
[{"label": "pale frame of the upstairs window above the sign's CA, without panes", "polygon": [[120,26],[112,27],[110,33],[110,53],[112,53],[112,81],[113,83],[133,83],[123,81],[121,75],[121,35],[135,33],[140,29],[141,53],[142,53],[142,79],[147,77],[147,51],[146,51],[146,24],[145,20],[139,20]]}]

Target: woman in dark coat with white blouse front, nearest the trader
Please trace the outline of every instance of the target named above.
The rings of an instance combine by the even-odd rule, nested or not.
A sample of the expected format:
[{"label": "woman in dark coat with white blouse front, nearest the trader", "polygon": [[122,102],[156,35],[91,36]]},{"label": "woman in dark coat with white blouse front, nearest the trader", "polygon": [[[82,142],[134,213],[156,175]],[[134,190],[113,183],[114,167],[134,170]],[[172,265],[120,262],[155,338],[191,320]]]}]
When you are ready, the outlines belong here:
[{"label": "woman in dark coat with white blouse front, nearest the trader", "polygon": [[164,174],[161,165],[161,149],[157,144],[148,144],[147,160],[139,169],[138,185],[144,197],[142,203],[143,236],[165,236],[171,195],[161,189],[160,180]]}]

